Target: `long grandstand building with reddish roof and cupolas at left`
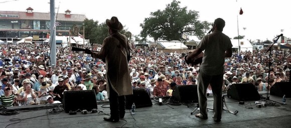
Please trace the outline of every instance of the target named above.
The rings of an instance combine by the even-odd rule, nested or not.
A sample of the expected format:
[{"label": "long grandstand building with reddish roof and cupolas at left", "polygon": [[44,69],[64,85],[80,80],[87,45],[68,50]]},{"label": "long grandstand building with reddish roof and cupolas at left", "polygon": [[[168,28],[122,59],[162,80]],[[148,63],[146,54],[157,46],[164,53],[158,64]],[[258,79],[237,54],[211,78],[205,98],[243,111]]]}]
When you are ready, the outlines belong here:
[{"label": "long grandstand building with reddish roof and cupolas at left", "polygon": [[[56,27],[57,36],[69,36],[75,26],[81,28],[85,15],[71,14],[71,11],[65,11],[65,14],[56,14],[56,22],[60,26]],[[50,13],[33,12],[28,8],[27,12],[0,11],[0,40],[9,42],[17,41],[26,37],[39,38],[43,41],[50,34]]]}]

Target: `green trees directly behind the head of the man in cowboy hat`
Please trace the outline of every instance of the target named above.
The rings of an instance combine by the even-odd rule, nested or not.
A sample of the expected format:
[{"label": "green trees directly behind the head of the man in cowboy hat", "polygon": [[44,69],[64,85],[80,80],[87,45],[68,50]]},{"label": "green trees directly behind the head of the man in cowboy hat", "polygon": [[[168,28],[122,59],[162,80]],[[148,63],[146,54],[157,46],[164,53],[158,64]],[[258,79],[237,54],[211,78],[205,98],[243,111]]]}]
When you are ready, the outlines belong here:
[{"label": "green trees directly behind the head of the man in cowboy hat", "polygon": [[[108,27],[106,23],[100,23],[98,21],[94,21],[93,19],[85,19],[84,20],[85,25],[85,39],[90,40],[90,44],[102,44],[103,40],[109,36],[108,33]],[[83,26],[82,26],[83,27]],[[131,33],[124,29],[125,26],[123,26],[123,30],[120,31],[121,34],[124,34],[127,39],[131,40]],[[83,34],[81,31],[80,34]]]}]

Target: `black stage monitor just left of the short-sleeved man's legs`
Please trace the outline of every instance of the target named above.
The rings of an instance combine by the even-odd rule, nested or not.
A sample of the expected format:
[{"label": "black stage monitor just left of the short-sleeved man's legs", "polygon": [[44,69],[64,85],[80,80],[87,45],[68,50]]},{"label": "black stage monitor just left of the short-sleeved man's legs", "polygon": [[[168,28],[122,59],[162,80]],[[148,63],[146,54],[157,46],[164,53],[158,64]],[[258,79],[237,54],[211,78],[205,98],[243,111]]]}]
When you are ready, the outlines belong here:
[{"label": "black stage monitor just left of the short-sleeved man's legs", "polygon": [[179,102],[198,102],[197,84],[177,85],[172,92],[171,100]]}]

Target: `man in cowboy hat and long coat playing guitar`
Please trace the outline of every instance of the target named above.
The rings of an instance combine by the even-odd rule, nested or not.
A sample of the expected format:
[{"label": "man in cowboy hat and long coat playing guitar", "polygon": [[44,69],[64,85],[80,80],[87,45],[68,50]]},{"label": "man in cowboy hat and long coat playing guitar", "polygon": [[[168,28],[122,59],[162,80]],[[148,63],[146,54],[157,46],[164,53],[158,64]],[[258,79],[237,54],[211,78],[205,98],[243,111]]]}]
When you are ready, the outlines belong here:
[{"label": "man in cowboy hat and long coat playing guitar", "polygon": [[94,58],[105,58],[106,60],[105,78],[111,116],[103,119],[117,122],[125,114],[125,95],[132,94],[128,68],[130,47],[127,38],[118,32],[122,30],[123,26],[116,17],[112,17],[110,20],[107,19],[106,25],[110,36],[103,40],[100,52],[97,53],[86,49],[86,53],[92,54]]}]

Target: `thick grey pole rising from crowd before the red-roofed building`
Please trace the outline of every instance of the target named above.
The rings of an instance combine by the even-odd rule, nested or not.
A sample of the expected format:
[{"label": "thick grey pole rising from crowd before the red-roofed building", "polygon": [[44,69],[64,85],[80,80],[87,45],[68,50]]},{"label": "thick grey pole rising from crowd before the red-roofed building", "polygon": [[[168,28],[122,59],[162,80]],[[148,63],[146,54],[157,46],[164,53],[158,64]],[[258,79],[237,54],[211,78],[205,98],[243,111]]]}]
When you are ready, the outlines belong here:
[{"label": "thick grey pole rising from crowd before the red-roofed building", "polygon": [[51,52],[50,52],[50,64],[57,64],[57,47],[56,47],[56,21],[55,21],[55,0],[50,0],[50,12],[51,12]]}]

